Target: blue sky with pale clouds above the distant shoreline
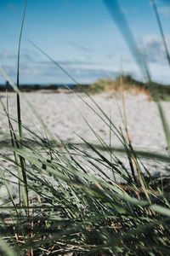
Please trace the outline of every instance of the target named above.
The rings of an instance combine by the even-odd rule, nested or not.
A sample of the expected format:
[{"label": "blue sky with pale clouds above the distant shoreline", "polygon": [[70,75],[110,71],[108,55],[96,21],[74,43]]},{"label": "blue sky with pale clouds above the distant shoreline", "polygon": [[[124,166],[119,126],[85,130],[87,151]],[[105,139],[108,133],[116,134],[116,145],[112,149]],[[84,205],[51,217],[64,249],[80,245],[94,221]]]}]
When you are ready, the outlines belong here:
[{"label": "blue sky with pale clouds above the distant shoreline", "polygon": [[[121,69],[124,74],[144,80],[144,73],[105,2],[107,0],[27,0],[20,49],[20,83],[72,83],[27,39],[57,61],[78,83],[115,79]],[[151,79],[170,84],[170,68],[150,0],[117,0],[117,3],[139,51],[144,53]],[[170,0],[157,0],[156,4],[170,49]],[[24,5],[25,0],[0,0],[0,64],[14,82]],[[5,79],[0,74],[0,84],[3,83]]]}]

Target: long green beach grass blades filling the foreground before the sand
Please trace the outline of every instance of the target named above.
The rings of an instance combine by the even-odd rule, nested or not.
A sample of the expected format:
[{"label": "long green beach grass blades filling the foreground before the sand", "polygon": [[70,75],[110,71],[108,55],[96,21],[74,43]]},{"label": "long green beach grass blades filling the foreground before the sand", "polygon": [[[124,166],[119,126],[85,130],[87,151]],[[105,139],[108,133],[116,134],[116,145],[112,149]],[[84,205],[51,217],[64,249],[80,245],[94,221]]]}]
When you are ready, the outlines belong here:
[{"label": "long green beach grass blades filling the foreground before the sand", "polygon": [[[125,25],[127,23],[123,23],[123,27]],[[131,38],[132,34],[127,32],[129,29],[125,38]],[[132,42],[131,49],[135,42],[131,40],[128,43]],[[141,58],[136,56],[136,60],[139,62]],[[19,61],[20,50],[18,65]],[[6,148],[14,154],[14,157],[10,157],[1,151],[1,157],[11,164],[1,166],[0,169],[1,186],[8,195],[0,206],[1,255],[168,255],[170,177],[151,177],[150,170],[145,170],[148,173],[146,177],[141,161],[145,157],[159,160],[160,166],[163,162],[169,163],[169,129],[157,94],[150,89],[153,88],[150,76],[150,95],[158,105],[167,138],[168,151],[165,155],[160,152],[135,151],[128,139],[126,109],[124,134],[122,128],[116,127],[93,97],[88,95],[88,91],[85,93],[98,108],[98,112],[85,102],[85,98],[75,93],[94,114],[98,114],[109,127],[110,133],[119,138],[122,148],[112,148],[111,143],[107,145],[88,121],[87,125],[94,132],[98,145],[82,137],[82,144],[86,147],[83,148],[82,145],[80,147],[54,137],[36,109],[31,107],[31,103],[20,92],[20,84],[15,85],[2,67],[1,72],[13,85],[18,99],[22,97],[40,121],[46,134],[46,137],[39,136],[26,127],[20,118],[14,120],[0,98],[8,118],[8,142],[9,139],[11,141],[6,143]],[[111,80],[107,83],[111,84],[109,87],[112,86]],[[19,101],[18,111],[20,117]],[[15,122],[19,124],[19,133],[14,131]],[[119,154],[116,154],[118,151],[125,155],[128,167],[123,165]],[[99,175],[93,175],[89,169]],[[105,169],[107,172],[104,172]],[[116,182],[115,176],[121,177],[122,182]],[[13,177],[12,180],[10,177]],[[18,191],[16,198],[11,191],[12,185]],[[21,195],[21,191],[24,195]]]}]

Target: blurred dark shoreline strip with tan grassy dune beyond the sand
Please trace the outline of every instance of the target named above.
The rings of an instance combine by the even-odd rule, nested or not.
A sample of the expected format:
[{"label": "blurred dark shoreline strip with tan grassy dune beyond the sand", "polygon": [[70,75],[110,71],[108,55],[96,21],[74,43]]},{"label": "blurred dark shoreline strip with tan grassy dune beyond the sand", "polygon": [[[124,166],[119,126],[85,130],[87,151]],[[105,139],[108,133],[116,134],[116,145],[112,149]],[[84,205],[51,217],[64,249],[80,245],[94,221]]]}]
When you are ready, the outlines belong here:
[{"label": "blurred dark shoreline strip with tan grassy dune beyond the sand", "polygon": [[[66,86],[65,86],[66,85]],[[133,91],[135,93],[144,93],[150,99],[155,98],[162,101],[170,101],[170,85],[157,84],[155,82],[141,82],[133,79],[130,75],[117,77],[115,80],[110,78],[99,79],[94,84],[20,84],[22,92],[41,92],[41,93],[71,93],[73,89],[75,92],[88,92],[91,95],[102,92],[109,92],[114,94],[123,90]],[[13,87],[6,82],[0,84],[0,91],[14,92]]]}]

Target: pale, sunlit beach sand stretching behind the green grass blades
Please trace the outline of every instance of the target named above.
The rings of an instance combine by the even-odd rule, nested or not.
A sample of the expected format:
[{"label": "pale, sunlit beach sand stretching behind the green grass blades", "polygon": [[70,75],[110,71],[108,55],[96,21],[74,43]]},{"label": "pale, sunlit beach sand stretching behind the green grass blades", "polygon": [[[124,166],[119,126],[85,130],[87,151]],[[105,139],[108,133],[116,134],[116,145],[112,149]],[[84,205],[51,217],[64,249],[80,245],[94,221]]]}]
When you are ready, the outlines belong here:
[{"label": "pale, sunlit beach sand stretching behind the green grass blades", "polygon": [[[88,96],[79,94],[82,99],[72,93],[45,93],[45,91],[25,93],[26,99],[31,102],[33,108],[42,117],[43,121],[48,125],[49,131],[54,136],[57,135],[70,143],[82,143],[80,137],[88,140],[91,143],[99,144],[94,133],[88,127],[85,118],[89,125],[91,125],[95,132],[105,141],[110,143],[110,128],[105,125],[105,122],[99,119],[89,107],[90,104],[97,113],[99,109],[94,106]],[[4,104],[6,105],[6,94],[0,94]],[[99,107],[111,117],[112,122],[116,127],[122,126],[122,97],[111,96],[110,93],[99,94],[93,96],[94,101],[99,104]],[[84,103],[83,101],[88,104]],[[142,148],[147,150],[156,150],[162,154],[167,154],[166,140],[162,130],[161,119],[156,107],[156,103],[148,99],[144,94],[133,95],[132,93],[125,93],[125,105],[127,113],[127,127],[129,136],[133,143],[134,148]],[[161,102],[164,113],[167,117],[168,124],[170,125],[170,102]],[[8,93],[8,108],[11,116],[16,118],[16,96],[14,93]],[[21,101],[22,120],[25,125],[28,125],[33,131],[42,132],[44,134],[42,125],[35,118],[30,109],[27,108],[24,101]],[[17,126],[15,125],[17,130]],[[0,131],[8,132],[8,121],[3,114],[1,108]],[[25,132],[25,131],[24,131]],[[78,135],[80,137],[78,137]],[[0,135],[3,140],[4,134]],[[114,136],[111,135],[111,146],[120,147],[121,143]],[[4,148],[0,148],[1,152],[8,153]],[[124,160],[124,163],[127,160]],[[0,159],[1,165],[8,166],[8,162]],[[156,161],[146,163],[153,175],[157,172],[166,172],[168,165],[162,165]]]}]

